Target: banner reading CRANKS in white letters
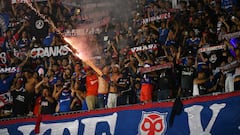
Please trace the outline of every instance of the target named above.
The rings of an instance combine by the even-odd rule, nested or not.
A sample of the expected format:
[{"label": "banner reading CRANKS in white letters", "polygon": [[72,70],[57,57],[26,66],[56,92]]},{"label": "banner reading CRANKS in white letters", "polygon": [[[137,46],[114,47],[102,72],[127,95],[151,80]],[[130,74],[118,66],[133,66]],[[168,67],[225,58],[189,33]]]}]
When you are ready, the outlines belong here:
[{"label": "banner reading CRANKS in white letters", "polygon": [[55,57],[68,55],[68,45],[50,46],[44,48],[33,48],[31,50],[32,58]]}]

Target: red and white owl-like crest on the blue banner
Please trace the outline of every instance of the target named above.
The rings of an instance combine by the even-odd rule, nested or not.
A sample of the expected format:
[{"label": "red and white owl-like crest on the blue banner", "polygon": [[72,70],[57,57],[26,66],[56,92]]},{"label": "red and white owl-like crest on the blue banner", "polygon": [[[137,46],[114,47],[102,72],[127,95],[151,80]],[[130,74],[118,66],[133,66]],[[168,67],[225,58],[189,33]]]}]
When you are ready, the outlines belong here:
[{"label": "red and white owl-like crest on the blue banner", "polygon": [[166,117],[167,113],[142,112],[139,135],[164,135],[167,129]]}]

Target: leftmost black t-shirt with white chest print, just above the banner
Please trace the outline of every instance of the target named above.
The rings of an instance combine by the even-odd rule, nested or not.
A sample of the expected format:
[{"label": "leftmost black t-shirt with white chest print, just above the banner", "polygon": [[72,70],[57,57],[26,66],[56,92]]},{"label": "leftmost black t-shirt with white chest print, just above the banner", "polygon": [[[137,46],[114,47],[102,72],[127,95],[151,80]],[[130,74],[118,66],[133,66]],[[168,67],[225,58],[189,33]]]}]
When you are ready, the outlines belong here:
[{"label": "leftmost black t-shirt with white chest print, just above the banner", "polygon": [[14,115],[24,115],[28,113],[29,103],[29,94],[22,87],[19,90],[11,91],[13,98],[13,114]]}]

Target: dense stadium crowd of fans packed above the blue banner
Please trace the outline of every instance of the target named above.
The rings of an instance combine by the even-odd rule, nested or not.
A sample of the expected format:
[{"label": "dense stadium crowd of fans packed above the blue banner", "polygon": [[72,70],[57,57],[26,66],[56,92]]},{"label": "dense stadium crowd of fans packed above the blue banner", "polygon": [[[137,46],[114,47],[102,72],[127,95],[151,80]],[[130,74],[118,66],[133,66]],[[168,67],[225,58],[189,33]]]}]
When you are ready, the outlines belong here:
[{"label": "dense stadium crowd of fans packed above the blue banner", "polygon": [[[114,108],[240,89],[237,0],[182,0],[176,7],[167,0],[129,0],[131,17],[110,14],[106,25],[84,35],[89,48],[96,48],[92,61],[103,75],[71,52],[33,57],[34,48],[67,42],[26,4],[1,3],[0,14],[11,22],[0,32],[0,52],[6,54],[0,55],[0,94],[7,100],[1,102],[1,116]],[[62,33],[86,23],[79,8],[58,0],[33,6]],[[8,67],[16,70],[4,72]]]}]

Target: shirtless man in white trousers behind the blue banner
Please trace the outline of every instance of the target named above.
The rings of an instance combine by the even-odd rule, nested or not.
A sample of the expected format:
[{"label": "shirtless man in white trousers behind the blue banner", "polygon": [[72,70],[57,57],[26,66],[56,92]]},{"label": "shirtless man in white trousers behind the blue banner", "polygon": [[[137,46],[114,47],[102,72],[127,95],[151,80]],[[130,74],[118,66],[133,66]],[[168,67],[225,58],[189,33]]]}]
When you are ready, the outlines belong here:
[{"label": "shirtless man in white trousers behind the blue banner", "polygon": [[120,74],[120,67],[119,65],[115,64],[112,68],[112,75],[110,76],[110,87],[109,87],[109,94],[108,94],[108,108],[114,108],[117,106],[117,97],[118,97],[118,90],[117,90],[117,82],[122,75]]}]

